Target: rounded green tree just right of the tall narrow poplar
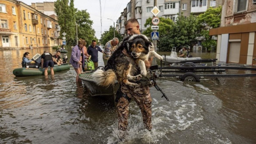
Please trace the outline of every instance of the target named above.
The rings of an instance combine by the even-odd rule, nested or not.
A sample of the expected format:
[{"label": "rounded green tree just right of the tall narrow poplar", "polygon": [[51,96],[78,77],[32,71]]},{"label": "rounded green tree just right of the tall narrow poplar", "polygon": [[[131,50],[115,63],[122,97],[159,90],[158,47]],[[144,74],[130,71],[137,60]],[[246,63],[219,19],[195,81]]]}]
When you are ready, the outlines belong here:
[{"label": "rounded green tree just right of the tall narrow poplar", "polygon": [[[87,45],[91,44],[92,40],[96,40],[95,30],[92,28],[92,20],[90,20],[90,14],[86,10],[78,10],[76,12],[76,23],[77,23],[77,37],[84,39]],[[76,44],[76,38],[75,38]],[[73,45],[75,45],[73,44]]]}]

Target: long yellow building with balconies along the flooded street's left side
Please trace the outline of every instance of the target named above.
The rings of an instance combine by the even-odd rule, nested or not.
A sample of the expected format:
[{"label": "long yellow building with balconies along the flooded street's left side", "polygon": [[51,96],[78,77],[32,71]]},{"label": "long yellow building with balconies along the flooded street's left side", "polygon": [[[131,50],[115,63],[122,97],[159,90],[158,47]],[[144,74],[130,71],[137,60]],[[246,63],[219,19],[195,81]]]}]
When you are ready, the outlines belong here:
[{"label": "long yellow building with balconies along the flooded street's left side", "polygon": [[16,0],[0,1],[0,50],[58,46],[57,20]]}]

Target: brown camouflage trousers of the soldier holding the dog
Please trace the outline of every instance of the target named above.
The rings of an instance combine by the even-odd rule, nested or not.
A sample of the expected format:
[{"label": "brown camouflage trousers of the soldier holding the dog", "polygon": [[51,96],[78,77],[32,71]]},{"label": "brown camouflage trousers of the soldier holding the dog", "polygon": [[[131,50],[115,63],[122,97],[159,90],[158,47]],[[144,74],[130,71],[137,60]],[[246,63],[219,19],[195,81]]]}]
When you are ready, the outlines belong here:
[{"label": "brown camouflage trousers of the soldier holding the dog", "polygon": [[[134,87],[129,87],[122,84],[121,91],[126,94],[129,98],[133,98],[134,101],[140,108],[143,124],[149,131],[152,129],[151,123],[151,103],[152,98],[149,93],[148,86],[141,86],[138,84]],[[117,103],[117,114],[118,114],[118,129],[125,131],[128,126],[128,114],[129,114],[129,101],[121,97]]]}]

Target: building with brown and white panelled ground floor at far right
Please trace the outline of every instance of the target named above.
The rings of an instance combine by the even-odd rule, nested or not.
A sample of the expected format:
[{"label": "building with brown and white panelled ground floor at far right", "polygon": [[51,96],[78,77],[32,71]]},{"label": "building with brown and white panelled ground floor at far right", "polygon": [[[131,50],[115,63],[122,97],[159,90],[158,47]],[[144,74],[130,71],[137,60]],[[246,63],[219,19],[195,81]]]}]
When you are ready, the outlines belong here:
[{"label": "building with brown and white panelled ground floor at far right", "polygon": [[220,28],[210,29],[209,32],[218,36],[218,60],[255,64],[256,0],[224,0]]}]

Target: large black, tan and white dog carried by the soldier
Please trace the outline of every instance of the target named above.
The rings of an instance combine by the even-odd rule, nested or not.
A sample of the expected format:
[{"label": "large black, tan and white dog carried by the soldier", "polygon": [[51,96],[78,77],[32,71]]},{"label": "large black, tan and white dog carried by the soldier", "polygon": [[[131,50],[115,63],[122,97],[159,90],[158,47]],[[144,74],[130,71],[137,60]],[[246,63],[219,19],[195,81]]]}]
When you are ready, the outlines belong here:
[{"label": "large black, tan and white dog carried by the soldier", "polygon": [[[150,46],[152,46],[152,43],[145,35],[132,35],[125,38],[108,59],[105,71],[97,70],[92,74],[95,83],[100,86],[108,87],[117,80],[119,83],[130,86],[137,85],[128,80],[137,81],[140,80],[142,76],[146,76],[147,70],[144,61],[148,60],[148,57],[155,56],[157,59],[163,60],[155,51],[150,51]],[[124,49],[129,56],[123,54],[122,51]],[[140,68],[142,76],[132,76],[137,71],[136,66]]]}]

